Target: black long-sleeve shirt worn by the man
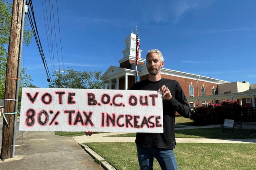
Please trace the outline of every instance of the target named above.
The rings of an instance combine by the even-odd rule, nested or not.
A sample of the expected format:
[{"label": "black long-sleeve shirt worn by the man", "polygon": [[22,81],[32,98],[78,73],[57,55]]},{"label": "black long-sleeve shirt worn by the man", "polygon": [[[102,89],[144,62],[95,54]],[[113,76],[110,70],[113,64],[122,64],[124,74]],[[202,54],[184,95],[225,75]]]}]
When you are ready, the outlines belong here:
[{"label": "black long-sleeve shirt worn by the man", "polygon": [[[142,147],[173,149],[176,147],[174,123],[176,111],[183,117],[190,117],[190,107],[186,96],[176,80],[164,79],[152,82],[143,80],[135,83],[131,90],[158,90],[163,85],[172,94],[171,100],[163,99],[163,128],[164,133],[137,133],[136,144]],[[154,113],[152,113],[154,114]]]}]

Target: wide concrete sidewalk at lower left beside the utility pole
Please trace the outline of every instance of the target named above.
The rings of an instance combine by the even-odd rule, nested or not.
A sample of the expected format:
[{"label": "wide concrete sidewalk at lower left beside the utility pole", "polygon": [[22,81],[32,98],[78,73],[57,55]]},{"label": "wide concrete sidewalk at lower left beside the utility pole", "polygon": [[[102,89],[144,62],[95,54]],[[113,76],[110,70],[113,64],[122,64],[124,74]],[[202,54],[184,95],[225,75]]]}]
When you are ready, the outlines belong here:
[{"label": "wide concrete sidewalk at lower left beside the utility pole", "polygon": [[71,137],[27,131],[16,138],[14,158],[0,160],[1,170],[102,170],[100,164]]}]

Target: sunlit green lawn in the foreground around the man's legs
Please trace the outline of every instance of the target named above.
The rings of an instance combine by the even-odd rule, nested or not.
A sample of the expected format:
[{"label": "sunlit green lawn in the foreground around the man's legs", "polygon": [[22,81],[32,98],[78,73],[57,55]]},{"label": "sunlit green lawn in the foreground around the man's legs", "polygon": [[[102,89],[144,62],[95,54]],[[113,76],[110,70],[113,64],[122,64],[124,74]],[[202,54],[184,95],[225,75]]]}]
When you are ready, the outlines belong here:
[{"label": "sunlit green lawn in the foreground around the man's legs", "polygon": [[[136,145],[124,143],[86,143],[118,170],[138,170]],[[174,149],[180,170],[254,170],[255,144],[178,143]],[[154,170],[160,170],[154,160]]]}]

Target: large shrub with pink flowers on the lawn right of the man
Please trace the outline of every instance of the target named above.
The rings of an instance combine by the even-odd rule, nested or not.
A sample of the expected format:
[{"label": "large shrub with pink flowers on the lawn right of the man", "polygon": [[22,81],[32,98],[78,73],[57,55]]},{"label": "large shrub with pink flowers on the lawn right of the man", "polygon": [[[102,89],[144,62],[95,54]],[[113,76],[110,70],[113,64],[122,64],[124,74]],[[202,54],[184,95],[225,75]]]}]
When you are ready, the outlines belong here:
[{"label": "large shrub with pink flowers on the lawn right of the man", "polygon": [[196,106],[191,112],[190,119],[194,120],[196,125],[221,124],[224,119],[239,120],[242,112],[242,106],[237,101],[223,100],[220,103],[204,106]]}]

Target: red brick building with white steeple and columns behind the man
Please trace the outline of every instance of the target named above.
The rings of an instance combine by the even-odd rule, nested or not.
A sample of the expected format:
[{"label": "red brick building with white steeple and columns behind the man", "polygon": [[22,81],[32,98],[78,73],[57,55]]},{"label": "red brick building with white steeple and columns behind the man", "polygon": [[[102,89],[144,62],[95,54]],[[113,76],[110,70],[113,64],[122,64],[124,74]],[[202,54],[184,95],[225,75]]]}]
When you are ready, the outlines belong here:
[{"label": "red brick building with white steeple and columns behind the man", "polygon": [[[108,70],[106,70],[106,72],[102,75],[103,77],[108,77],[109,89],[129,90],[135,82],[136,35],[131,33],[128,35],[124,42],[125,49],[122,51],[123,57],[118,61],[120,66],[110,66]],[[148,78],[148,70],[144,64],[146,59],[141,58],[141,52],[142,50],[140,49],[138,59],[138,72],[140,80],[144,80]],[[162,78],[173,79],[180,83],[191,108],[196,105],[201,106],[202,104],[208,104],[209,102],[216,102],[217,100],[224,99],[239,100],[242,104],[243,100],[248,100],[246,99],[247,97],[251,97],[252,105],[250,106],[255,107],[256,85],[252,85],[251,89],[250,86],[248,86],[248,90],[250,91],[248,94],[242,94],[240,96],[235,94],[232,96],[231,91],[228,89],[234,88],[232,87],[234,86],[234,82],[230,83],[224,80],[170,70],[168,68],[162,68],[161,76]],[[220,84],[226,85],[221,85],[222,88],[220,88]],[[229,94],[222,92],[222,89],[225,88],[228,90],[227,92],[230,92]],[[238,86],[235,88],[238,89]],[[238,93],[238,90],[233,91]],[[246,90],[242,92],[245,91]],[[246,102],[243,102],[243,104],[245,103]]]}]

